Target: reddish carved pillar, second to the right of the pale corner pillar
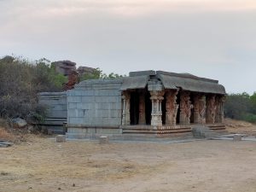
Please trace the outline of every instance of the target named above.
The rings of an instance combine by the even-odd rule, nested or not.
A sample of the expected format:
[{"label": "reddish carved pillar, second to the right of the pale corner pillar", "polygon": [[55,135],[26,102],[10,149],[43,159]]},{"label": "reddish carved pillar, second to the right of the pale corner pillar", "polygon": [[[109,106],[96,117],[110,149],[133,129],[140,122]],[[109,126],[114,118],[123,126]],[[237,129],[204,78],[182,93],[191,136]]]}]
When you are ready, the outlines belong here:
[{"label": "reddish carved pillar, second to the right of the pale corner pillar", "polygon": [[189,91],[182,91],[180,94],[180,117],[179,121],[181,125],[189,125],[190,124],[190,115],[191,115],[191,102],[189,100]]}]

